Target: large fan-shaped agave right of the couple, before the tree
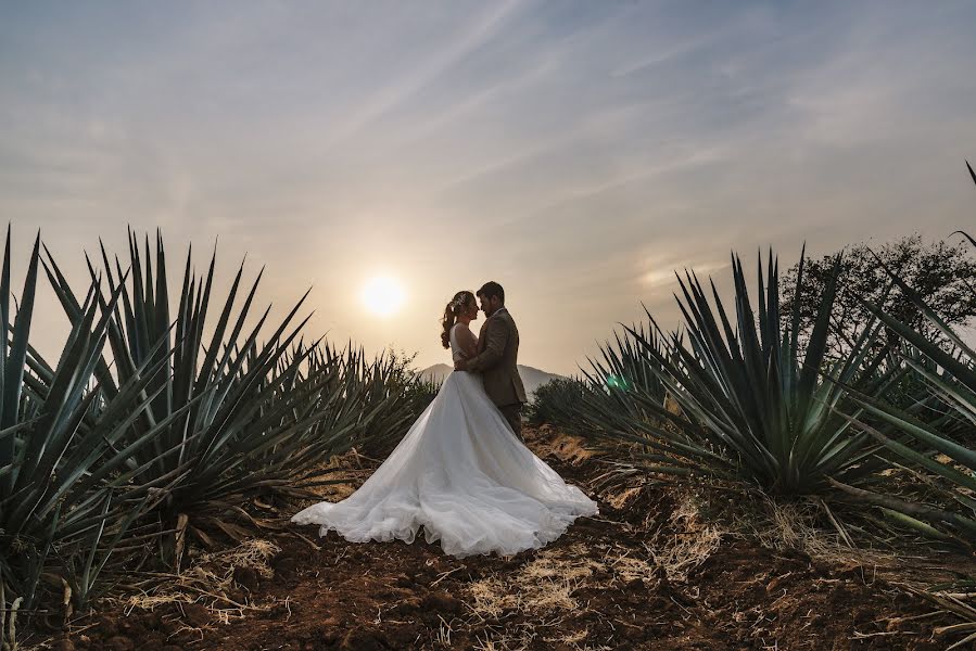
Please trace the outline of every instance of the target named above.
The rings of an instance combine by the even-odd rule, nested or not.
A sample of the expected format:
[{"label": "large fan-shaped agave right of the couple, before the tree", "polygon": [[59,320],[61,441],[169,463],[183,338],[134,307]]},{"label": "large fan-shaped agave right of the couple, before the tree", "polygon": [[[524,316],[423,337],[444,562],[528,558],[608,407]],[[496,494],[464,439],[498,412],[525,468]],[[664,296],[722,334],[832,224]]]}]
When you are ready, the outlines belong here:
[{"label": "large fan-shaped agave right of the couple, before the tree", "polygon": [[[713,307],[688,271],[679,276],[677,298],[687,344],[675,333],[662,346],[629,329],[670,404],[637,392],[635,399],[647,417],[608,411],[605,429],[634,441],[643,437],[654,450],[647,456],[658,463],[654,470],[746,481],[775,494],[822,493],[829,489],[828,477],[857,484],[873,476],[886,464],[875,455],[880,446],[842,414],[858,411],[847,398],[847,385],[876,395],[893,380],[882,372],[883,358],[870,353],[879,326],[865,327],[845,359],[828,362],[824,353],[836,273],[801,346],[798,312],[791,315],[791,328],[781,326],[778,263],[772,252],[765,270],[758,263],[758,314],[736,255],[732,269],[734,318],[714,284]],[[802,271],[801,266],[798,283]]]}]

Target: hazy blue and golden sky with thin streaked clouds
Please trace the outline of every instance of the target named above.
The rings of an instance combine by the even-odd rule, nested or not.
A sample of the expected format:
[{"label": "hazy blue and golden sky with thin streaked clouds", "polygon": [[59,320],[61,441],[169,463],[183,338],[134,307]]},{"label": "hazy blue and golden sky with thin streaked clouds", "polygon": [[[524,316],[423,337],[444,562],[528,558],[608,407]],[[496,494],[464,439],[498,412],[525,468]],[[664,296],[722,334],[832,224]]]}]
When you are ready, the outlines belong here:
[{"label": "hazy blue and golden sky with thin streaked clouds", "polygon": [[677,323],[674,269],[976,229],[974,33],[955,1],[0,0],[13,277],[38,229],[79,292],[161,229],[174,290],[216,246],[218,297],[264,267],[272,317],[312,288],[309,337],[419,367],[495,280],[519,361],[573,373],[642,305]]}]

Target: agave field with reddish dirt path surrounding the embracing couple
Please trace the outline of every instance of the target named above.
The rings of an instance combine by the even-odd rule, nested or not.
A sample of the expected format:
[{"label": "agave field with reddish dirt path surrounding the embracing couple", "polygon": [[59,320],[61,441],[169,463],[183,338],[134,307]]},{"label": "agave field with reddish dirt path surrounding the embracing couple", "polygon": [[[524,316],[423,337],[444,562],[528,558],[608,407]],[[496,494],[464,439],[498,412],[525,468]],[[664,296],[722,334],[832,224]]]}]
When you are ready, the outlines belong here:
[{"label": "agave field with reddish dirt path surrounding the embracing couple", "polygon": [[[188,254],[177,291],[159,234],[99,253],[79,282],[38,237],[12,301],[8,232],[4,651],[976,641],[976,350],[882,255],[844,333],[842,254],[813,303],[802,251],[789,273],[733,254],[727,295],[680,275],[677,330],[647,311],[531,405],[529,444],[601,515],[458,560],[288,522],[354,490],[430,403],[410,358],[307,339],[305,296],[268,322],[261,273],[224,293],[216,254],[202,277]],[[41,272],[71,323],[56,361],[30,342]]]}]

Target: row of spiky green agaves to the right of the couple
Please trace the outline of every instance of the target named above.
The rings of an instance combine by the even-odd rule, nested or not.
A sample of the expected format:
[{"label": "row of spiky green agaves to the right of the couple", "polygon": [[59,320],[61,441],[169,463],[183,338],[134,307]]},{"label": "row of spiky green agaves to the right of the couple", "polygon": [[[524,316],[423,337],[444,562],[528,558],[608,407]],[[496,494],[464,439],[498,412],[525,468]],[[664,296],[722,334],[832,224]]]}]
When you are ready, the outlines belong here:
[{"label": "row of spiky green agaves to the right of the couple", "polygon": [[[798,303],[791,315],[778,314],[772,253],[765,269],[758,264],[757,309],[735,255],[733,314],[713,283],[710,302],[694,272],[679,276],[680,333],[663,334],[648,312],[646,327],[624,327],[616,345],[603,346],[584,378],[541,390],[533,416],[597,442],[638,444],[648,471],[867,503],[888,521],[974,549],[976,450],[967,443],[976,432],[976,349],[886,268],[888,290],[909,297],[951,346],[887,312],[883,299],[865,299],[873,319],[842,358],[828,358],[839,265],[838,256],[802,336]],[[922,478],[925,499],[895,495],[892,475],[904,477],[890,472],[896,468]],[[954,586],[954,596],[934,597],[965,620],[950,627],[966,634],[953,647],[976,640],[976,608],[958,598],[974,587],[971,580],[962,591]]]}]

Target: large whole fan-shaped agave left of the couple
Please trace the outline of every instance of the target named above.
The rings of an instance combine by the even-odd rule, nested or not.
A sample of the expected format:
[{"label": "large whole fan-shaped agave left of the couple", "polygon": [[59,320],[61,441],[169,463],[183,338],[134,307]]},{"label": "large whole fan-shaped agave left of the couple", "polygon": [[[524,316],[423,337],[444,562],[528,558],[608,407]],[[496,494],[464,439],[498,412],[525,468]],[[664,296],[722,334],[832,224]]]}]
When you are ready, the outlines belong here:
[{"label": "large whole fan-shaped agave left of the couple", "polygon": [[[105,273],[114,282],[104,246],[101,254]],[[339,369],[334,365],[302,375],[299,381],[300,368],[315,349],[314,345],[300,346],[297,354],[286,358],[308,319],[291,327],[307,292],[268,340],[258,343],[270,307],[249,331],[244,323],[262,273],[232,318],[242,264],[207,341],[204,327],[216,252],[205,281],[195,278],[192,250],[188,253],[175,315],[170,315],[166,257],[160,233],[156,234],[155,273],[148,238],[143,257],[130,231],[129,256],[131,290],[122,281],[122,265],[116,258],[121,301],[110,306],[101,293],[97,294],[103,309],[112,315],[106,323],[111,363],[103,356],[93,372],[106,398],[112,399],[142,367],[155,363],[166,367],[165,372],[155,374],[149,382],[152,399],[148,409],[129,424],[124,441],[127,444],[140,441],[147,433],[160,430],[161,423],[167,423],[152,437],[152,445],[131,451],[128,465],[138,484],[131,497],[152,493],[155,496],[152,506],[163,528],[176,527],[176,537],[169,539],[166,550],[175,552],[174,560],[178,561],[186,531],[202,533],[203,524],[214,524],[230,532],[231,526],[219,513],[239,509],[238,496],[286,482],[301,470],[295,464],[296,458],[322,454],[328,442],[353,430],[357,414],[344,410],[344,420],[329,421],[334,427],[332,436],[310,435],[343,397],[324,396],[327,387],[335,386]],[[67,316],[78,322],[81,308],[50,252],[45,268]],[[89,270],[94,277],[90,261]],[[99,418],[104,419],[105,414]],[[191,520],[191,513],[195,519]]]}]

